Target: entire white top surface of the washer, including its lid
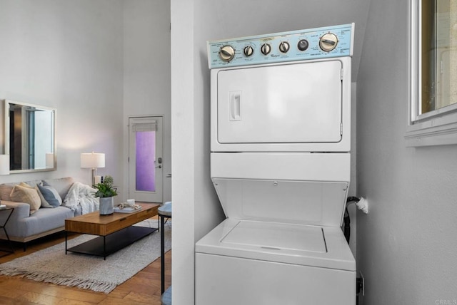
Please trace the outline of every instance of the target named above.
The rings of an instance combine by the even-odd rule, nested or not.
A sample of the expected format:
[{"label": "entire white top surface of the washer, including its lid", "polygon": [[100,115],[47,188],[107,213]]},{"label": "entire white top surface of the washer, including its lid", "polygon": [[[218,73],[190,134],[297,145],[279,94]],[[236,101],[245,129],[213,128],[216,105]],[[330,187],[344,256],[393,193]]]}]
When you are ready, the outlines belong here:
[{"label": "entire white top surface of the washer, including its lid", "polygon": [[195,245],[197,254],[356,270],[340,227],[225,219]]}]

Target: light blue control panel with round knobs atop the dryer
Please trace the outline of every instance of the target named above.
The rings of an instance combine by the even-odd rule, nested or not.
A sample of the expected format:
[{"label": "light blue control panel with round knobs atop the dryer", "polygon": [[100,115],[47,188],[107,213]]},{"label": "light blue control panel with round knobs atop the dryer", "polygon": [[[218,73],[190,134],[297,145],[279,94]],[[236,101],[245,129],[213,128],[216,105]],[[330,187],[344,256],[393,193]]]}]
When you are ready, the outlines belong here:
[{"label": "light blue control panel with round knobs atop the dryer", "polygon": [[209,68],[352,56],[354,24],[208,41]]}]

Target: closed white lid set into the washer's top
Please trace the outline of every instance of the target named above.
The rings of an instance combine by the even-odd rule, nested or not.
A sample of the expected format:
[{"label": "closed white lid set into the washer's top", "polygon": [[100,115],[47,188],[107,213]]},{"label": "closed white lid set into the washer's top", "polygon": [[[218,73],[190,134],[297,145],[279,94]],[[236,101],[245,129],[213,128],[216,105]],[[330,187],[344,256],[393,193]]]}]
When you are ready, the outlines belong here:
[{"label": "closed white lid set into the washer's top", "polygon": [[221,244],[253,246],[267,250],[327,252],[321,227],[269,222],[239,222],[221,240]]}]

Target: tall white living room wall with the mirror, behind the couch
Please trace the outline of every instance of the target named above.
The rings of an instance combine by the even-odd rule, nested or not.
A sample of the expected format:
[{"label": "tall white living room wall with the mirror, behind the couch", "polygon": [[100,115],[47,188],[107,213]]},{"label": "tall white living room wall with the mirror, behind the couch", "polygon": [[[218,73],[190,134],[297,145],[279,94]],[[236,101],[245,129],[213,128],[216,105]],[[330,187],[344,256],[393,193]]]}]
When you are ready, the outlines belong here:
[{"label": "tall white living room wall with the mirror, behind the couch", "polygon": [[0,0],[0,98],[57,109],[57,170],[0,182],[72,176],[89,183],[79,155],[92,150],[106,153],[101,175],[121,179],[121,33],[117,0]]}]

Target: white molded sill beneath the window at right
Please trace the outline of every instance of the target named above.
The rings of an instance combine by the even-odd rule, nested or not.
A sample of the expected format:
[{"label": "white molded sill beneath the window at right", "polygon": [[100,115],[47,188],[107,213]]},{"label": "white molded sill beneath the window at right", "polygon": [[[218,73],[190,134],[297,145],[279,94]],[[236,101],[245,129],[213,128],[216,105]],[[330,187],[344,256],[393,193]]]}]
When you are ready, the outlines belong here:
[{"label": "white molded sill beneath the window at right", "polygon": [[457,144],[457,113],[409,125],[405,140],[410,148]]}]

